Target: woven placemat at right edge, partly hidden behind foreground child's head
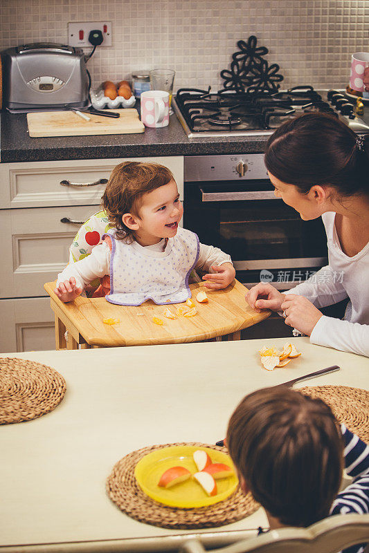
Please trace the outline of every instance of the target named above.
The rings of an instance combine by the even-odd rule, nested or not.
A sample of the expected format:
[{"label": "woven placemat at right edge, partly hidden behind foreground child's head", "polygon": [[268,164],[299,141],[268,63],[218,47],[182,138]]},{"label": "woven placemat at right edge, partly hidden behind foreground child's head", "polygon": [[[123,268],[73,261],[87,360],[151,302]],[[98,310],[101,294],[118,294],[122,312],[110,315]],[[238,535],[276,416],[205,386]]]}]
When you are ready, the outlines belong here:
[{"label": "woven placemat at right edge, partly hidden behind foreground child's head", "polygon": [[330,406],[339,422],[364,442],[369,441],[369,391],[350,386],[305,386],[297,391],[319,397]]}]

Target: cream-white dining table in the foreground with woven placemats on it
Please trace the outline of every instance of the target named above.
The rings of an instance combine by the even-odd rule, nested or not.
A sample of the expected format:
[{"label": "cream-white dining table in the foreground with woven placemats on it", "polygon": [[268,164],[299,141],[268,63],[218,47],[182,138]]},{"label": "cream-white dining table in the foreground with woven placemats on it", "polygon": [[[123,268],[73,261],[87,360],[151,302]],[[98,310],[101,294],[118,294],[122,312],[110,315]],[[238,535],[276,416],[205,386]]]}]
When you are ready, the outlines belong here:
[{"label": "cream-white dining table in the foreground with woven placemats on it", "polygon": [[[285,341],[267,343],[280,347]],[[48,415],[0,427],[0,553],[116,551],[122,543],[130,552],[163,551],[183,539],[176,534],[194,534],[120,512],[105,493],[111,468],[152,444],[215,443],[246,393],[319,368],[338,364],[341,371],[300,386],[368,388],[368,358],[313,346],[307,338],[292,341],[302,357],[273,372],[260,365],[265,340],[3,354],[52,366],[64,375],[67,390]],[[259,525],[267,526],[262,509],[195,534],[213,546]],[[84,543],[97,540],[124,541]],[[73,544],[36,545],[65,542]]]}]

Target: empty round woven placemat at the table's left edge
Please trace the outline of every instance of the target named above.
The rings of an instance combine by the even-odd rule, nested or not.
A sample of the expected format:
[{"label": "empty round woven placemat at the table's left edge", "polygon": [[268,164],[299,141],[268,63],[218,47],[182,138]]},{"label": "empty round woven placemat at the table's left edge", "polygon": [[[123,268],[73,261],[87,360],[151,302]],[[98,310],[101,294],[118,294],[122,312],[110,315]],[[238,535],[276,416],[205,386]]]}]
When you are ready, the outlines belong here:
[{"label": "empty round woven placemat at the table's left edge", "polygon": [[66,390],[55,369],[17,357],[0,358],[0,424],[32,420],[53,411]]}]

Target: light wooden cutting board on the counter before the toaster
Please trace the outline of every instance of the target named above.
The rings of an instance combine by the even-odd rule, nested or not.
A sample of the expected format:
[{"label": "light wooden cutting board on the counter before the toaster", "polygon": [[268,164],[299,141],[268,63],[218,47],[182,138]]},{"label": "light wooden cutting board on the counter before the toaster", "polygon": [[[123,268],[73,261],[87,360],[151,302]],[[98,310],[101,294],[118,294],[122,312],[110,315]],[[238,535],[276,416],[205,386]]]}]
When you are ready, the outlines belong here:
[{"label": "light wooden cutting board on the counter before the toaster", "polygon": [[82,136],[98,134],[143,133],[145,126],[136,109],[107,109],[120,114],[119,118],[87,114],[90,121],[74,111],[39,111],[27,113],[30,136]]}]

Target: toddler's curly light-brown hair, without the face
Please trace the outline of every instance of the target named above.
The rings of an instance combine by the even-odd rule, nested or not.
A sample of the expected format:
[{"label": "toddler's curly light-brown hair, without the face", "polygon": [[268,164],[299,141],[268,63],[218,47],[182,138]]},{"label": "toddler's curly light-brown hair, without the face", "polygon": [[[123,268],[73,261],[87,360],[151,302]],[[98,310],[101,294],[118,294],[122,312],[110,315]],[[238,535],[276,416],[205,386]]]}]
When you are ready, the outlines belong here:
[{"label": "toddler's curly light-brown hair, without the face", "polygon": [[116,237],[133,238],[134,231],[123,224],[125,213],[140,216],[142,197],[168,182],[174,180],[172,171],[158,163],[142,161],[125,161],[111,171],[102,206],[105,209],[110,225],[116,228]]}]

